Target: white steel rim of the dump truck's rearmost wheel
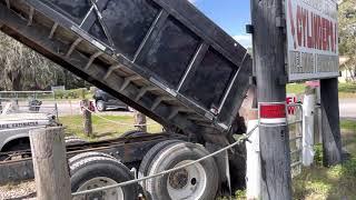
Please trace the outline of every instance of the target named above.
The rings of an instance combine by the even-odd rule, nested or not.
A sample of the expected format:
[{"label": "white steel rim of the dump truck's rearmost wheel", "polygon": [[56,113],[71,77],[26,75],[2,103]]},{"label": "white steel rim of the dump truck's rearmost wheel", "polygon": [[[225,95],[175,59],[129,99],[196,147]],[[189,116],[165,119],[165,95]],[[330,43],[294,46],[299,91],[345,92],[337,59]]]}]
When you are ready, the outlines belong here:
[{"label": "white steel rim of the dump truck's rearmost wheel", "polygon": [[[179,167],[191,162],[192,160],[185,160],[175,166]],[[177,177],[184,180],[174,183]],[[187,177],[185,177],[187,176]],[[187,180],[185,180],[187,178]],[[207,188],[207,173],[200,163],[189,166],[182,171],[169,173],[167,179],[167,190],[171,199],[197,200],[200,199]]]}]

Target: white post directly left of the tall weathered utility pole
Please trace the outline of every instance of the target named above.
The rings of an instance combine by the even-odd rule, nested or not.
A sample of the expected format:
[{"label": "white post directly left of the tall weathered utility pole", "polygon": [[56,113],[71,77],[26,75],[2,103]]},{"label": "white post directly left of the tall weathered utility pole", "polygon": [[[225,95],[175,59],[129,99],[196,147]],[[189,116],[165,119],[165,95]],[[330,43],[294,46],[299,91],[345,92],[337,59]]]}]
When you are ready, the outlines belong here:
[{"label": "white post directly left of the tall weathered utility pole", "polygon": [[[247,131],[251,131],[258,126],[257,110],[254,119],[250,119],[247,124]],[[259,156],[259,128],[257,127],[246,142],[246,197],[248,200],[260,199],[261,169]]]}]

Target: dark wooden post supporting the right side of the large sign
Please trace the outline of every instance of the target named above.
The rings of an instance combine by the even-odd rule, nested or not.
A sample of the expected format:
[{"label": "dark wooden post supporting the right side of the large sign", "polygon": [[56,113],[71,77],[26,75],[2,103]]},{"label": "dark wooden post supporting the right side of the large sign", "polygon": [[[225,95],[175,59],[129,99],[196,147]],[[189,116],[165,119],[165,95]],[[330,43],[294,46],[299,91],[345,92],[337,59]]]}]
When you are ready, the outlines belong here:
[{"label": "dark wooden post supporting the right side of the large sign", "polygon": [[330,167],[342,162],[342,136],[338,108],[338,80],[320,80],[323,163]]}]

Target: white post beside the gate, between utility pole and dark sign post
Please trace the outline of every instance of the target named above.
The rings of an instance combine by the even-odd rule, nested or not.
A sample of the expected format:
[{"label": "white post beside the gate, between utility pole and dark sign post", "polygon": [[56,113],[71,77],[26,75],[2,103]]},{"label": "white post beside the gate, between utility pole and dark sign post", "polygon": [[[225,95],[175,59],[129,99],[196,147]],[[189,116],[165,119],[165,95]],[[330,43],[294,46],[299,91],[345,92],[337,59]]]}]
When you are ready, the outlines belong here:
[{"label": "white post beside the gate, between utility pole and dark sign post", "polygon": [[310,166],[314,161],[314,114],[316,96],[306,92],[303,103],[303,166]]}]

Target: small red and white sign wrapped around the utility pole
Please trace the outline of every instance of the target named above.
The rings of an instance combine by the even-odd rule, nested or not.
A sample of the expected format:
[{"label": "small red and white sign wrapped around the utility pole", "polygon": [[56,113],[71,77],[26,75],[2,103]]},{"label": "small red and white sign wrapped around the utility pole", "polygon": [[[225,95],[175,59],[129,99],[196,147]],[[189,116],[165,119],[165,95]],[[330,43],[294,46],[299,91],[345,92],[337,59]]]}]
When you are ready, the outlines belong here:
[{"label": "small red and white sign wrapped around the utility pole", "polygon": [[278,126],[287,123],[285,102],[259,103],[259,123]]}]

